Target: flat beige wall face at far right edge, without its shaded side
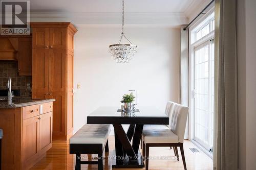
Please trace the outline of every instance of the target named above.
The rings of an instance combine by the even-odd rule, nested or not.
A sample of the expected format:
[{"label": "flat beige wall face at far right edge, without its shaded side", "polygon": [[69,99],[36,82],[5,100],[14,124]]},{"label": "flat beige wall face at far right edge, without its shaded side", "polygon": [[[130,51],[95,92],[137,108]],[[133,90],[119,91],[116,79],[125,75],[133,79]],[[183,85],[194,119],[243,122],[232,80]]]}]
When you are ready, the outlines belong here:
[{"label": "flat beige wall face at far right edge, without its shaded side", "polygon": [[245,1],[246,22],[246,169],[256,169],[256,1]]}]

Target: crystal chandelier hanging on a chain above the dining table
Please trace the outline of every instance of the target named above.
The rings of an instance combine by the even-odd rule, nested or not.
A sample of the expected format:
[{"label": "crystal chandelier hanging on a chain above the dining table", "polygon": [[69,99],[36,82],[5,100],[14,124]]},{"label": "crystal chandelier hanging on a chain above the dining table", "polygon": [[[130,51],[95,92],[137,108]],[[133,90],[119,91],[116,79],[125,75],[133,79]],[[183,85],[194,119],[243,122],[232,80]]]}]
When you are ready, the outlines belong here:
[{"label": "crystal chandelier hanging on a chain above the dining table", "polygon": [[[123,0],[122,0],[123,1]],[[124,35],[124,3],[122,5],[122,33],[121,38],[117,44],[112,44],[109,46],[109,52],[111,56],[118,63],[129,63],[129,61],[134,57],[135,53],[137,53],[137,45],[134,45],[125,35]],[[130,42],[130,44],[121,44],[122,38],[126,38]]]}]

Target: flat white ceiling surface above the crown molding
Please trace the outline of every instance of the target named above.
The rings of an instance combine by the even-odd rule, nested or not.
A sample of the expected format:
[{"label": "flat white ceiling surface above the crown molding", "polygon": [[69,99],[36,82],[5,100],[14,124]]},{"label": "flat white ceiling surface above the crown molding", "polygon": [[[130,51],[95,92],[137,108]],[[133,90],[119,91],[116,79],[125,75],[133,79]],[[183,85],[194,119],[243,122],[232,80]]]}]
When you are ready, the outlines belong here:
[{"label": "flat white ceiling surface above the crown molding", "polygon": [[[185,12],[197,0],[125,0],[126,12]],[[120,12],[121,0],[32,0],[31,12]]]}]

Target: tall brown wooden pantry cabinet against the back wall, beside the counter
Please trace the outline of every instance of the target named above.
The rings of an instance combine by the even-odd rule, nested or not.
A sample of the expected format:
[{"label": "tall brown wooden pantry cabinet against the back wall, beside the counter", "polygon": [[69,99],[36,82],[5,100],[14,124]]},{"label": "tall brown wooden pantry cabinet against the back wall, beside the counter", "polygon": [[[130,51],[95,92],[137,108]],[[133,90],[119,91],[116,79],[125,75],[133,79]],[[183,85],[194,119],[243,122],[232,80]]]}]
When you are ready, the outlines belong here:
[{"label": "tall brown wooden pantry cabinet against the back wall, beside the counter", "polygon": [[53,140],[73,132],[73,58],[76,28],[70,22],[32,22],[32,98],[55,99]]}]

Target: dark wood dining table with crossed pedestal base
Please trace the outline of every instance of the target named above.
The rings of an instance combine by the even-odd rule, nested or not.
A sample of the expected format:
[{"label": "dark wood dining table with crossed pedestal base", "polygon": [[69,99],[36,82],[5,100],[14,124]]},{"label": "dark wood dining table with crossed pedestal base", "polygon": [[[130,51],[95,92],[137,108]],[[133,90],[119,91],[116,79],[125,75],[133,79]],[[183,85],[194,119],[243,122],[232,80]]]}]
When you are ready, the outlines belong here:
[{"label": "dark wood dining table with crossed pedestal base", "polygon": [[[88,124],[112,124],[115,131],[113,168],[142,168],[139,150],[144,125],[168,125],[169,117],[154,107],[141,107],[139,112],[117,112],[117,107],[100,107],[87,116]],[[122,124],[130,125],[127,132]]]}]

